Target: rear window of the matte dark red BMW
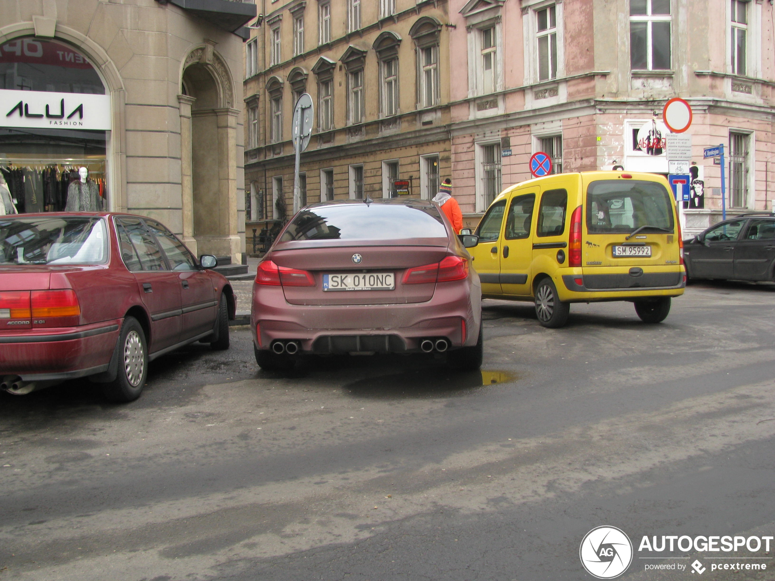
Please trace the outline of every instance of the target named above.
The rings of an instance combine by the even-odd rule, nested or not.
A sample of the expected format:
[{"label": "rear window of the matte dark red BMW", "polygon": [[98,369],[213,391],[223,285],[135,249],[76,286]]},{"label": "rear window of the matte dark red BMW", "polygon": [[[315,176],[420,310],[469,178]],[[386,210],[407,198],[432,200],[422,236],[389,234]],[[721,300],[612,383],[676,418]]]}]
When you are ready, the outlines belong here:
[{"label": "rear window of the matte dark red BMW", "polygon": [[404,204],[325,205],[302,210],[280,241],[446,238],[439,211]]}]

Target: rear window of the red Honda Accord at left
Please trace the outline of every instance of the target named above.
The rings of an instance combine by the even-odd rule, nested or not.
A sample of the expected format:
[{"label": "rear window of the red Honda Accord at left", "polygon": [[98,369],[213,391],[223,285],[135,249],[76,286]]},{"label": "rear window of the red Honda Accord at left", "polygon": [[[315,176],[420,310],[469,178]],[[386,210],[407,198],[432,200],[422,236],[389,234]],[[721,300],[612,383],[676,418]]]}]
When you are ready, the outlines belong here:
[{"label": "rear window of the red Honda Accord at left", "polygon": [[83,216],[0,218],[0,264],[102,264],[105,220]]}]

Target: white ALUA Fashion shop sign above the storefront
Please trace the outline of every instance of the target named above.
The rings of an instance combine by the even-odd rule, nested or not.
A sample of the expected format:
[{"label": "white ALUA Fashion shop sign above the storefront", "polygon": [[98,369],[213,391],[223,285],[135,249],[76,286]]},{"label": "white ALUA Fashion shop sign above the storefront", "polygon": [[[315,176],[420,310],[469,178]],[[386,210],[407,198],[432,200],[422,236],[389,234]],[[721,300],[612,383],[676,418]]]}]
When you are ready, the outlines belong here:
[{"label": "white ALUA Fashion shop sign above the storefront", "polygon": [[110,95],[0,89],[0,127],[107,131],[110,116]]}]

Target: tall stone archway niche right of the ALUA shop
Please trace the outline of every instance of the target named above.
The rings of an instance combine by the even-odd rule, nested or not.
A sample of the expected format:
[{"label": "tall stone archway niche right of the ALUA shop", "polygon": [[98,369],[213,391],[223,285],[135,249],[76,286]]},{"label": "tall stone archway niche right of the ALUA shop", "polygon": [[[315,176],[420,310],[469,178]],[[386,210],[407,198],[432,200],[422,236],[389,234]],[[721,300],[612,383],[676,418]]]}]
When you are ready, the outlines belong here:
[{"label": "tall stone archway niche right of the ALUA shop", "polygon": [[237,225],[236,122],[229,69],[211,43],[188,54],[181,95],[184,242],[198,254],[241,261]]}]

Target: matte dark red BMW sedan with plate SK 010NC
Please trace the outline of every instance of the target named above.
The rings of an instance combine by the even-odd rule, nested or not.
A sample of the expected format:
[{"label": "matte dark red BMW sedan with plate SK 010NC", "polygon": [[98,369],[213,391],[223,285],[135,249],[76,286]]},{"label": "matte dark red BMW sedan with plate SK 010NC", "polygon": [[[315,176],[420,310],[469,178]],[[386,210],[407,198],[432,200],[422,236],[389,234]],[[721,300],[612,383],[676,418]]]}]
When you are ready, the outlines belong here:
[{"label": "matte dark red BMW sedan with plate SK 010NC", "polygon": [[277,370],[303,354],[449,351],[450,365],[479,369],[481,287],[465,249],[476,244],[474,235],[455,235],[429,201],[302,209],[258,266],[258,364]]}]

